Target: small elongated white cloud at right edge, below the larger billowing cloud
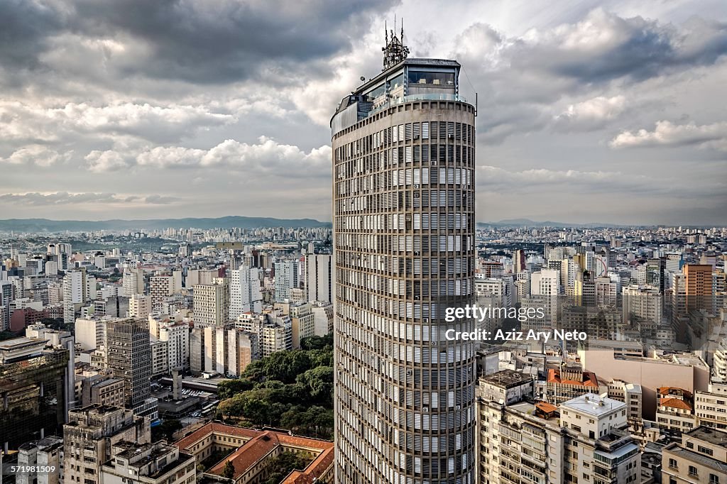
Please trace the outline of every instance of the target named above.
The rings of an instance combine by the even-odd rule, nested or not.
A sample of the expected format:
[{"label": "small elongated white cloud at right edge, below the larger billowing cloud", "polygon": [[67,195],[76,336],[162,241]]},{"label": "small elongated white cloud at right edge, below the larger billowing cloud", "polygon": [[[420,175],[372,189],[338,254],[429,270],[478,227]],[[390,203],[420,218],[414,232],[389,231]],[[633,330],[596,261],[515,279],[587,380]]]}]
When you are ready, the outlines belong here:
[{"label": "small elongated white cloud at right edge, below the larger billowing cloud", "polygon": [[696,145],[699,148],[727,151],[727,121],[702,125],[657,121],[654,131],[624,131],[614,137],[609,145],[611,148]]}]

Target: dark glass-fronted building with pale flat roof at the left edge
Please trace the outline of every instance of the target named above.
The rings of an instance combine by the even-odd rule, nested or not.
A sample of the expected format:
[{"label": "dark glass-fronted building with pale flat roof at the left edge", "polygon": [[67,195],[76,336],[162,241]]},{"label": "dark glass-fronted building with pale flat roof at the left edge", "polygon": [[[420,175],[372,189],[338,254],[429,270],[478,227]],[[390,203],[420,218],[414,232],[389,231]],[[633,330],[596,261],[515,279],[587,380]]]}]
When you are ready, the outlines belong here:
[{"label": "dark glass-fronted building with pale flat roof at the left edge", "polygon": [[73,388],[70,352],[45,345],[36,338],[0,342],[1,450],[57,434],[65,422]]}]

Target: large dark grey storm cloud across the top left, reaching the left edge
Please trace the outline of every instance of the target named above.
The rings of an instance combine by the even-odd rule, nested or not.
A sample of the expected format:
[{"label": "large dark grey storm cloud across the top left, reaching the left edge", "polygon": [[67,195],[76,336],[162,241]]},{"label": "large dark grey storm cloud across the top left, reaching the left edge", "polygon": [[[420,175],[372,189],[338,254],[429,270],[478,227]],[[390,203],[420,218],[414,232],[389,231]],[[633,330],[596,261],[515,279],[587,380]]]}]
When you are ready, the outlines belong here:
[{"label": "large dark grey storm cloud across the top left, reaching the left edge", "polygon": [[[121,75],[226,84],[262,73],[273,84],[351,48],[396,0],[0,1],[0,69],[43,67],[54,36],[119,39],[138,49],[110,57]],[[321,65],[318,65],[318,63]],[[91,66],[89,66],[91,67]],[[310,72],[308,72],[310,73]]]}]

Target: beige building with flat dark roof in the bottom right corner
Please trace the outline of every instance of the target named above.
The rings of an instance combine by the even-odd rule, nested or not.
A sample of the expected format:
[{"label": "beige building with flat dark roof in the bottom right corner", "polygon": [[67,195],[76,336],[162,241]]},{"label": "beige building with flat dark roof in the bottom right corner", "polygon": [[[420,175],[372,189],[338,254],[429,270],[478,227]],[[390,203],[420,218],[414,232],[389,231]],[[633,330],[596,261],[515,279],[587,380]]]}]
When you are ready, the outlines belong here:
[{"label": "beige building with flat dark roof in the bottom right corner", "polygon": [[682,434],[662,449],[662,483],[727,482],[727,432],[707,427]]}]

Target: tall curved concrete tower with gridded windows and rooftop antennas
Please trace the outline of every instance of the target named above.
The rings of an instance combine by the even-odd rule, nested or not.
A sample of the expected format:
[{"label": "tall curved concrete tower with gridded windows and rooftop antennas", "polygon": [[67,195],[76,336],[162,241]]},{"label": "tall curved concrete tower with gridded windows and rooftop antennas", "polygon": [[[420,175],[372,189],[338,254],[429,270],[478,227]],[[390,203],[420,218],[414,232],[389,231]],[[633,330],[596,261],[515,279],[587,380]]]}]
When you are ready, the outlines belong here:
[{"label": "tall curved concrete tower with gridded windows and rooftop antennas", "polygon": [[406,59],[332,118],[336,480],[473,483],[475,109],[459,63]]}]

